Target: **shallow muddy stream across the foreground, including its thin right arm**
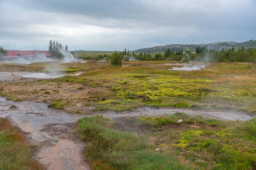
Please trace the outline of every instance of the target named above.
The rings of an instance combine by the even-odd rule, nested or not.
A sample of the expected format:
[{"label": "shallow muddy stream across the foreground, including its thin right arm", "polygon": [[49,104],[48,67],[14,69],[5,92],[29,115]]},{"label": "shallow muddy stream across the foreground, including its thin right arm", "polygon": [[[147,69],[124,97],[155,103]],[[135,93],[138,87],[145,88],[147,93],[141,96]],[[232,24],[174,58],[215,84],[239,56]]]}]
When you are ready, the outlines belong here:
[{"label": "shallow muddy stream across the foreground, including its thin right arm", "polygon": [[[10,109],[16,105],[16,109]],[[154,116],[164,113],[184,112],[189,115],[200,114],[204,118],[224,120],[248,120],[253,118],[246,113],[223,110],[202,110],[182,108],[140,108],[134,111],[102,112],[112,119]],[[90,167],[81,157],[84,143],[73,134],[73,122],[83,115],[70,115],[47,108],[46,103],[12,102],[0,97],[0,117],[10,116],[28,136],[30,142],[38,146],[37,158],[48,170],[88,170]]]}]

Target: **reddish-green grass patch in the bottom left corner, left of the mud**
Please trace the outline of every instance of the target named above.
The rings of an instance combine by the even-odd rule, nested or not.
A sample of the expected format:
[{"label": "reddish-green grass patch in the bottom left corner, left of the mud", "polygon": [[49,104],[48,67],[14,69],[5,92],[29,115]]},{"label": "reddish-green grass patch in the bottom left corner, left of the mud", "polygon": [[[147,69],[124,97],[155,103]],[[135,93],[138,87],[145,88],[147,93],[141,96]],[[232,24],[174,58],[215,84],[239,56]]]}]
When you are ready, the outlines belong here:
[{"label": "reddish-green grass patch in the bottom left corner, left of the mud", "polygon": [[[12,106],[14,107],[14,106]],[[29,153],[29,145],[23,143],[26,136],[9,120],[0,118],[0,169],[44,170]]]}]

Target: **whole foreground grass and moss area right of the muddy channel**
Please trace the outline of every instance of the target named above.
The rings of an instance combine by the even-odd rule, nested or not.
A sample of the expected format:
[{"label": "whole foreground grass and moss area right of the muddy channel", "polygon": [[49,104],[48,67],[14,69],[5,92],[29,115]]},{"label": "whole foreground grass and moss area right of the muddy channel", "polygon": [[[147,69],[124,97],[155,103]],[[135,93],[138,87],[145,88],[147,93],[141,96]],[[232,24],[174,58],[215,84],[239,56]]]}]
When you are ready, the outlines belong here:
[{"label": "whole foreground grass and moss area right of the muddy channel", "polygon": [[[184,122],[177,123],[178,119]],[[185,113],[138,117],[134,122],[136,128],[143,126],[152,131],[144,134],[118,131],[113,129],[113,123],[102,116],[79,119],[77,133],[87,142],[84,157],[93,170],[252,170],[256,167],[256,119],[227,122]]]}]

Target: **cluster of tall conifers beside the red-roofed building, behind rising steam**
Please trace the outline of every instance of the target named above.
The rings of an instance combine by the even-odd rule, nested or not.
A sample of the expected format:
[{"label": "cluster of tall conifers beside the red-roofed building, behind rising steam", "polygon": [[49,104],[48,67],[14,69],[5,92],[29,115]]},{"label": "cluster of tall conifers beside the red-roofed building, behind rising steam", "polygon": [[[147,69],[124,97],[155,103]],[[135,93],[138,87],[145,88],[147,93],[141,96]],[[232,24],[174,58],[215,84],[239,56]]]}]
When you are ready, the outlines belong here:
[{"label": "cluster of tall conifers beside the red-roofed building, behind rising steam", "polygon": [[[55,40],[49,41],[49,49],[48,49],[51,58],[55,59],[63,59],[64,56],[61,54],[61,51],[64,51],[64,46],[61,43],[58,43],[58,41],[55,42]],[[65,51],[68,51],[67,45],[65,45]]]}]

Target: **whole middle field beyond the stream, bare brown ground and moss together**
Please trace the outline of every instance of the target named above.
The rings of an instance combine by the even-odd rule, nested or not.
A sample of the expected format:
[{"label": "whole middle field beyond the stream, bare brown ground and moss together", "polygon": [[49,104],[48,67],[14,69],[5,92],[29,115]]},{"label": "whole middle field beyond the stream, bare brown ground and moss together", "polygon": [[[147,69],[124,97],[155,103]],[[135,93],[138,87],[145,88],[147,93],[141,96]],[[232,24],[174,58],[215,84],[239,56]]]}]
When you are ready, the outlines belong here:
[{"label": "whole middle field beyond the stream, bare brown ground and moss together", "polygon": [[[71,113],[85,113],[85,108],[92,106],[93,111],[172,106],[256,113],[254,64],[214,63],[199,71],[167,70],[172,66],[159,62],[125,62],[122,68],[116,68],[105,62],[89,61],[61,67],[87,72],[77,77],[0,82],[2,95],[38,102],[61,101],[61,108]],[[41,64],[25,68],[45,70]]]}]

